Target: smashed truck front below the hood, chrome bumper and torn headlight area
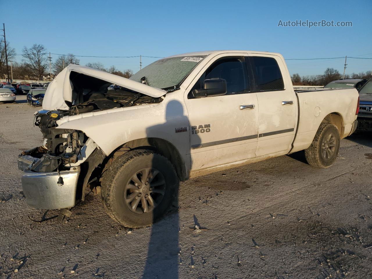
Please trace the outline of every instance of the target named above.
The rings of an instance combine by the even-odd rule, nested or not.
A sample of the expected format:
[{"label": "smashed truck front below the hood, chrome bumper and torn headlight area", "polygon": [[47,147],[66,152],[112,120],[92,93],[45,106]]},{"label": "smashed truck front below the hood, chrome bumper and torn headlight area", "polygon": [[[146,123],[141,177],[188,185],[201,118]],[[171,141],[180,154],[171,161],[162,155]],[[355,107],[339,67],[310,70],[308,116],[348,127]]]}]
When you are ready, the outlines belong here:
[{"label": "smashed truck front below the hood, chrome bumper and torn headlight area", "polygon": [[34,208],[75,206],[78,200],[84,199],[83,186],[88,183],[85,180],[80,183],[81,172],[87,174],[87,168],[81,164],[89,161],[92,153],[96,154],[91,157],[98,156],[100,162],[105,157],[83,132],[56,128],[56,121],[69,113],[63,110],[36,112],[35,126],[41,129],[44,144],[23,151],[18,157],[18,168],[24,171],[22,187],[26,203]]}]

